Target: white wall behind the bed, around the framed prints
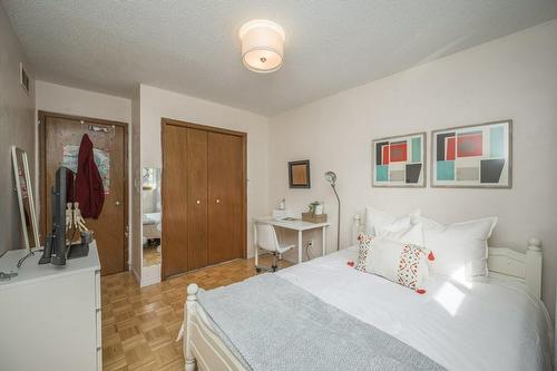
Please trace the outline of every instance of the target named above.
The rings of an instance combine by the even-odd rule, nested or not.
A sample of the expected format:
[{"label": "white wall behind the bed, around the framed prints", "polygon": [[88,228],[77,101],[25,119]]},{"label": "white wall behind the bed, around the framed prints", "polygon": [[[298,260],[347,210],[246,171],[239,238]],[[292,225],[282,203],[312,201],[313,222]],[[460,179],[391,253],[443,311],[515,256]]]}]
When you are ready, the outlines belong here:
[{"label": "white wall behind the bed, around the framed prints", "polygon": [[[270,204],[302,211],[335,201],[323,180],[339,175],[341,236],[365,205],[407,213],[420,207],[441,222],[498,215],[492,245],[524,250],[544,242],[543,295],[550,313],[557,272],[557,20],[356,87],[271,118]],[[514,119],[512,189],[371,187],[371,140],[444,127]],[[430,143],[428,137],[428,143]],[[429,148],[428,148],[428,157]],[[287,188],[286,163],[311,159],[312,188]],[[429,158],[428,158],[429,162]],[[428,176],[428,184],[430,183]],[[334,248],[335,227],[328,235]]]}]

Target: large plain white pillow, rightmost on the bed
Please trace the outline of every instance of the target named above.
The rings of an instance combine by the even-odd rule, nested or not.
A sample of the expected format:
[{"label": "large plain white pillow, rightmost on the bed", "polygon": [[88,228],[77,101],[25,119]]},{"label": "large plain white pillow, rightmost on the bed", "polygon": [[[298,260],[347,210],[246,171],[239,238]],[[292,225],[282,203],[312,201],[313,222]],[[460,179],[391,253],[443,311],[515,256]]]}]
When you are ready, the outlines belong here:
[{"label": "large plain white pillow, rightmost on the bed", "polygon": [[487,240],[497,224],[497,217],[442,225],[422,218],[423,240],[436,255],[434,274],[466,279],[487,276]]}]

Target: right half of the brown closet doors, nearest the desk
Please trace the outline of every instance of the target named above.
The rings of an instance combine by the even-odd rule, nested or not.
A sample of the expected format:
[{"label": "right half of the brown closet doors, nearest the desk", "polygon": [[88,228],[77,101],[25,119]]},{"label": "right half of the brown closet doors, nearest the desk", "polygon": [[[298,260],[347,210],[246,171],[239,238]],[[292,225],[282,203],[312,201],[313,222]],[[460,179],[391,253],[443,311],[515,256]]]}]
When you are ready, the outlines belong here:
[{"label": "right half of the brown closet doors, nearest the desk", "polygon": [[208,263],[243,254],[243,138],[208,133]]}]

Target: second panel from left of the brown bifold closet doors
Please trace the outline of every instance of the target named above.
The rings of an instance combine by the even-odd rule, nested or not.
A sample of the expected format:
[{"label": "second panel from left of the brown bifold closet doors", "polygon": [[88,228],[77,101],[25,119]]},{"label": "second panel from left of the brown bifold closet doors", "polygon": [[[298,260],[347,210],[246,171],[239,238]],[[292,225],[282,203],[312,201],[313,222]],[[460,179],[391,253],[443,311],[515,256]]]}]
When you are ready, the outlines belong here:
[{"label": "second panel from left of the brown bifold closet doors", "polygon": [[208,264],[207,246],[207,131],[187,130],[188,271]]}]

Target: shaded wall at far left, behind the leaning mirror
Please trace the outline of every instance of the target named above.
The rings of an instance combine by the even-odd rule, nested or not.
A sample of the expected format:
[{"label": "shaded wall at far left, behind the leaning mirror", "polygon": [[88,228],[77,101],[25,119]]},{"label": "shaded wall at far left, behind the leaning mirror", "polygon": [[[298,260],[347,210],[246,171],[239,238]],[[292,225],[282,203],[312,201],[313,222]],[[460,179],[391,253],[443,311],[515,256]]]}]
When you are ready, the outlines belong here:
[{"label": "shaded wall at far left, behind the leaning mirror", "polygon": [[[30,77],[29,95],[19,85],[19,64],[23,62]],[[20,214],[13,192],[11,146],[25,149],[31,174],[35,172],[35,82],[32,66],[10,21],[0,7],[0,255],[8,250],[22,248]]]}]

